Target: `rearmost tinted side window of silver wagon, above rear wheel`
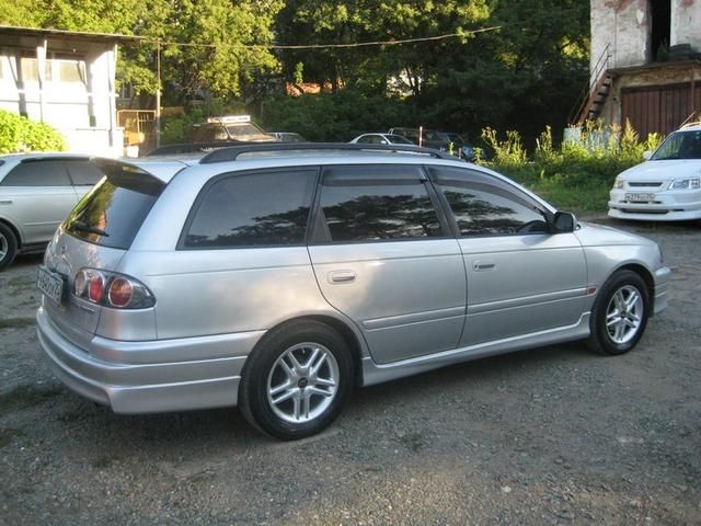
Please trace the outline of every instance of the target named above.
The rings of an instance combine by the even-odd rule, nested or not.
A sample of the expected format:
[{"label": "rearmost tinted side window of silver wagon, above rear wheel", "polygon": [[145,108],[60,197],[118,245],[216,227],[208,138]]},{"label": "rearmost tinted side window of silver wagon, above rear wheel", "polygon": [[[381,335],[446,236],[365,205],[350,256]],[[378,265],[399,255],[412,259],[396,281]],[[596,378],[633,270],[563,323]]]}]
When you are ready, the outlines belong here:
[{"label": "rearmost tinted side window of silver wagon, above rear wheel", "polygon": [[198,199],[184,249],[301,245],[317,170],[228,175]]}]

